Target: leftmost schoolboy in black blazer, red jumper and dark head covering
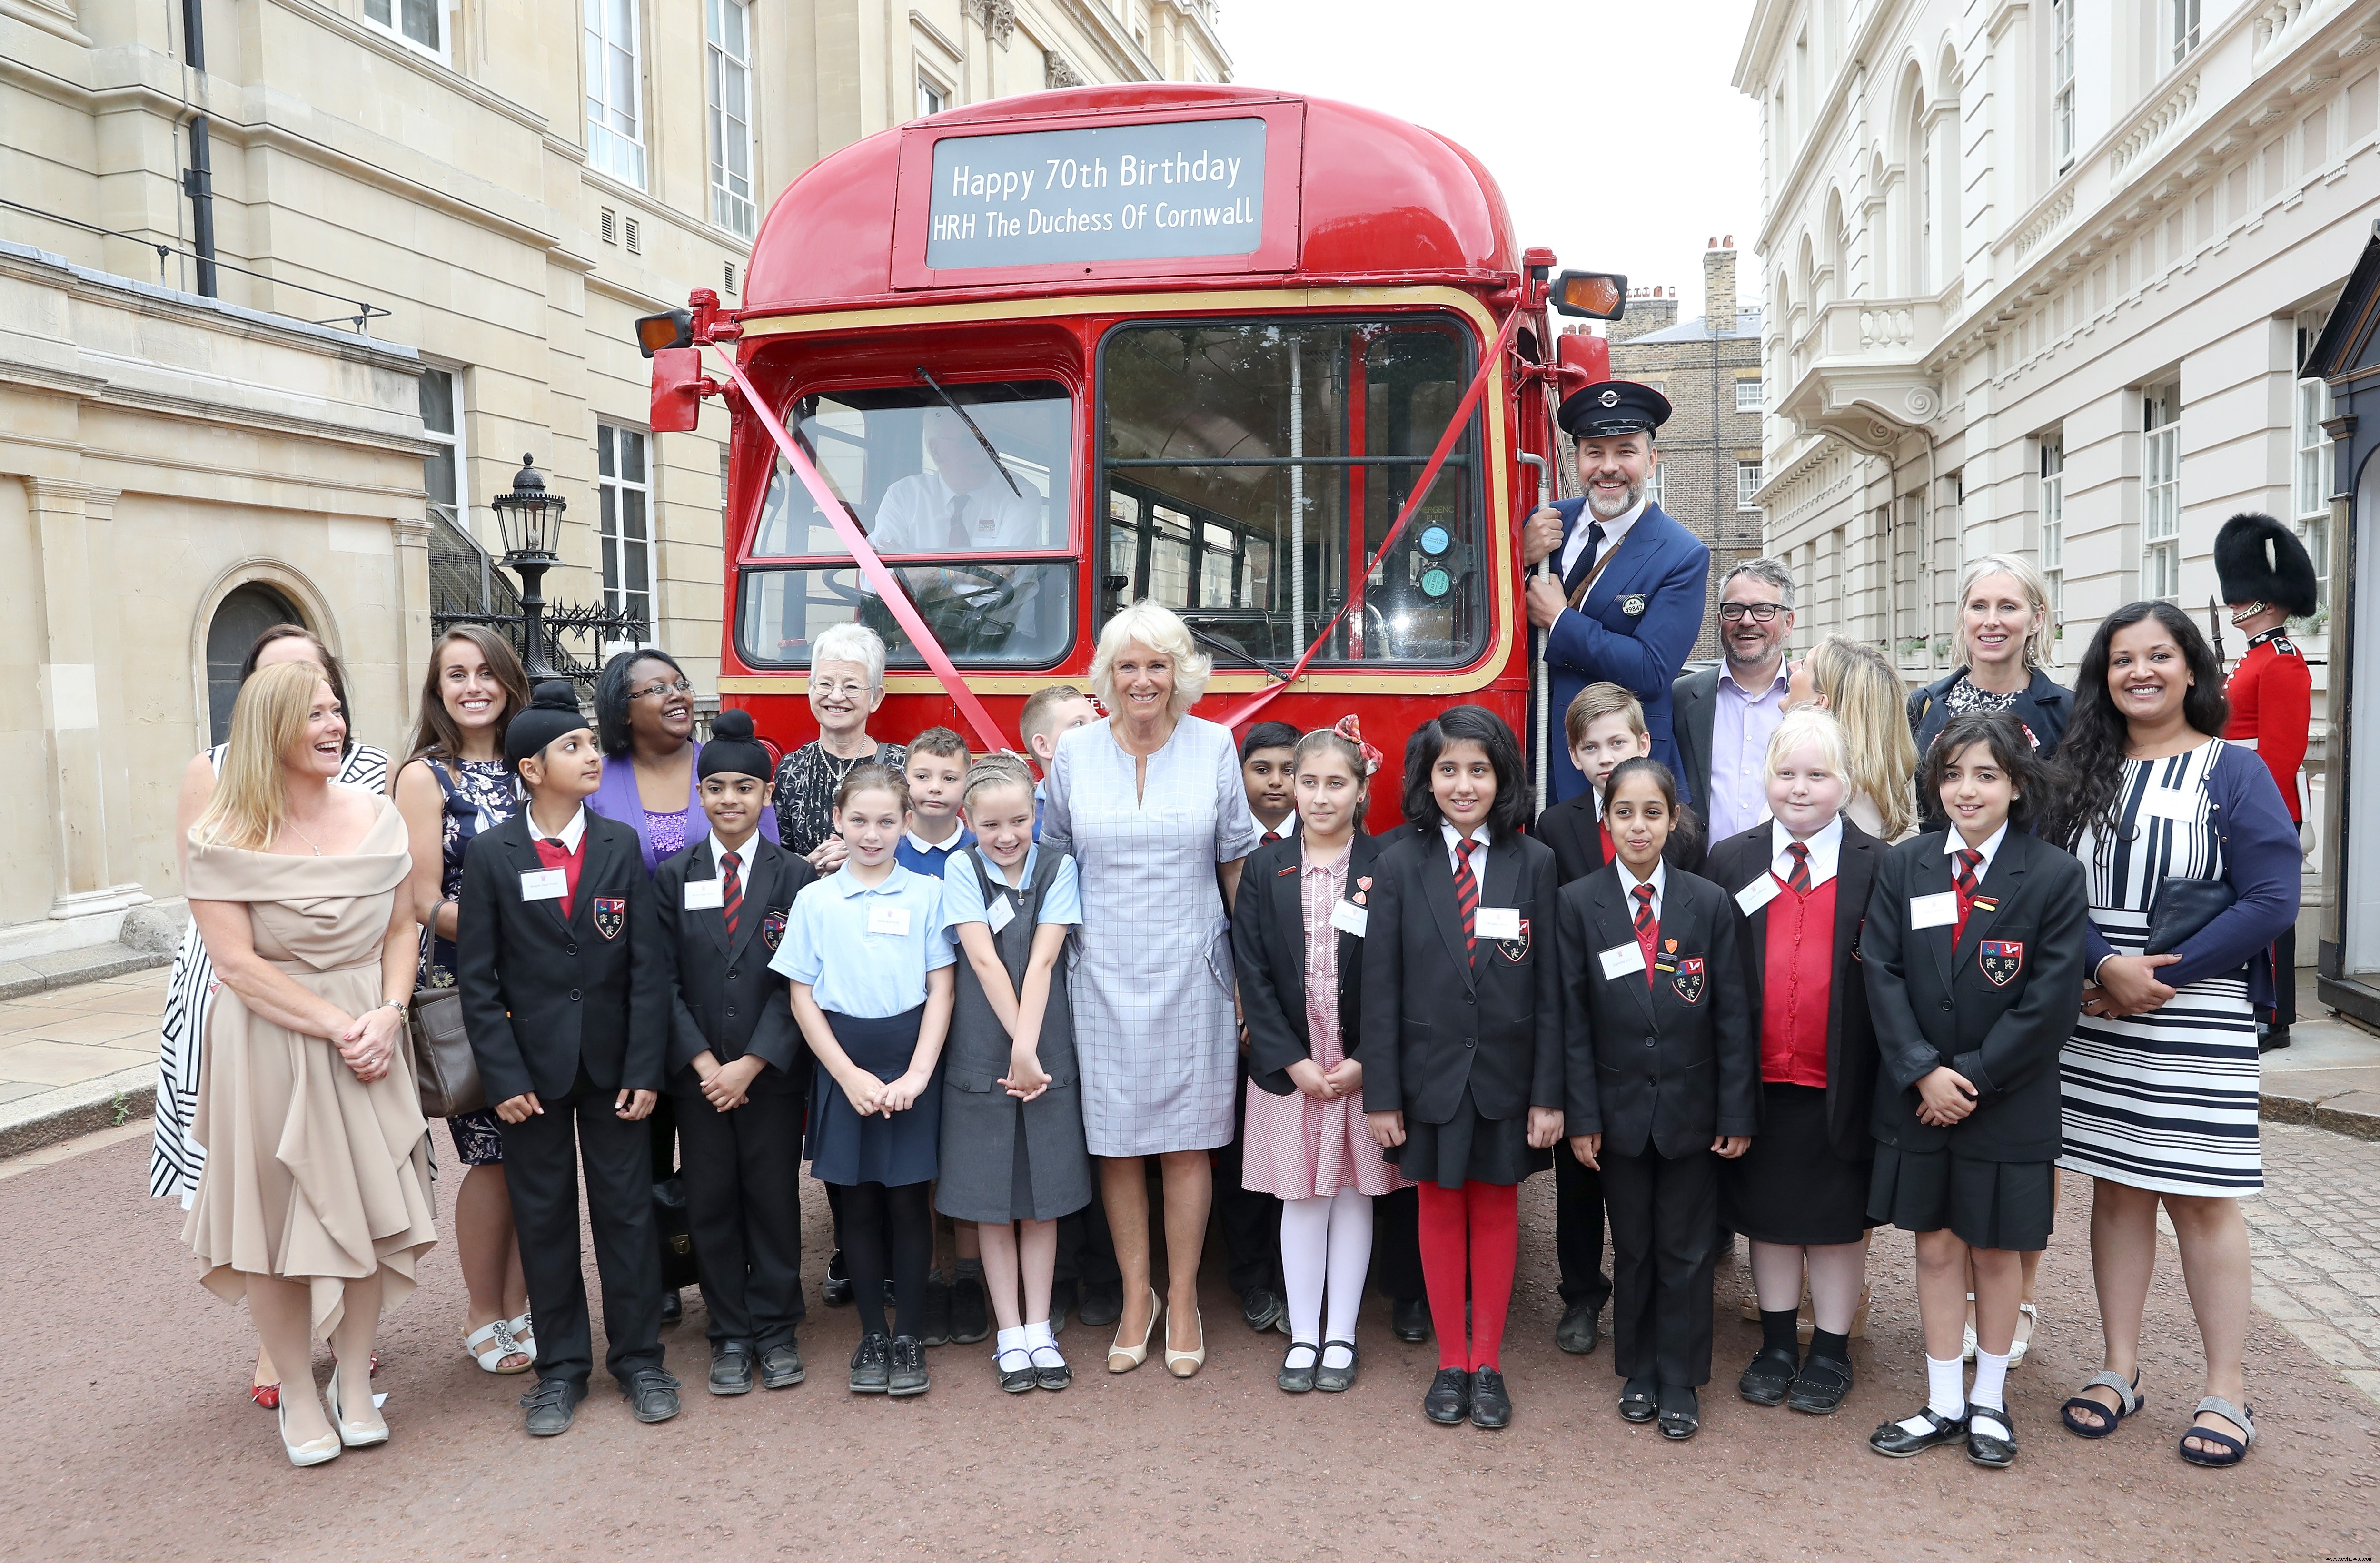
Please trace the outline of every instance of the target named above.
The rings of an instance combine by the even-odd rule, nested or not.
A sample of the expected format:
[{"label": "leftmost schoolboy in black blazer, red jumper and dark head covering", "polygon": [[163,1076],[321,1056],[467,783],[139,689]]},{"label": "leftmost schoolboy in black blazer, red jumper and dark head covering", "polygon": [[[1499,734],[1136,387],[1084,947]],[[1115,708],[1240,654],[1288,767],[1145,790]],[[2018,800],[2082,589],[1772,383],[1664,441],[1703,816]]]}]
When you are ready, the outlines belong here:
[{"label": "leftmost schoolboy in black blazer, red jumper and dark head covering", "polygon": [[[590,814],[602,752],[566,680],[538,685],[505,730],[531,802],[471,837],[462,864],[455,978],[481,1085],[505,1121],[505,1185],[538,1335],[528,1430],[564,1432],[593,1363],[578,1258],[585,1170],[602,1280],[605,1366],[638,1420],[678,1413],[662,1370],[662,1266],[652,1228],[652,1137],[669,971],[635,833]],[[576,809],[540,854],[531,816]],[[552,866],[547,856],[555,859]]]}]

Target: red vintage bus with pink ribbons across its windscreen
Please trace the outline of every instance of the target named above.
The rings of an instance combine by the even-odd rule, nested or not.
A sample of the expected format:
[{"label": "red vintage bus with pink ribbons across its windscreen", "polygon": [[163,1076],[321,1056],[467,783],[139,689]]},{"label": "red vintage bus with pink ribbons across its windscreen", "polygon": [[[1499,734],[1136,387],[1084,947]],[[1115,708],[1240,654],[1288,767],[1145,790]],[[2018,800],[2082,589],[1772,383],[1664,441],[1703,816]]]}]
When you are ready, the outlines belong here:
[{"label": "red vintage bus with pink ribbons across its windscreen", "polygon": [[[1214,654],[1202,716],[1271,688],[1266,718],[1357,714],[1392,821],[1430,711],[1542,735],[1518,523],[1559,485],[1552,407],[1606,374],[1599,340],[1554,352],[1549,305],[1626,300],[1552,269],[1468,152],[1319,98],[1033,93],[819,162],[762,226],[743,309],[697,293],[640,326],[681,343],[654,428],[693,428],[712,390],[733,414],[721,699],[809,740],[809,645],[859,621],[890,647],[873,730],[969,730],[957,678],[1021,747],[1023,697],[1081,685],[1100,623],[1147,597]],[[702,345],[743,383],[702,378]]]}]

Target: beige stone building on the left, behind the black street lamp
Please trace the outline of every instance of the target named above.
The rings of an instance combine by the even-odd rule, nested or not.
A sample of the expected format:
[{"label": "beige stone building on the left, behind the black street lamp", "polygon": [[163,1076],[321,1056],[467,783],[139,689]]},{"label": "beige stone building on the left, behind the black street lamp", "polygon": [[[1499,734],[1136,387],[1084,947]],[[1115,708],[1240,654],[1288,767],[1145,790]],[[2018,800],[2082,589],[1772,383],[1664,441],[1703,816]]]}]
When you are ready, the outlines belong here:
[{"label": "beige stone building on the left, behind the black street lamp", "polygon": [[769,200],[862,136],[1230,67],[1211,0],[5,0],[0,62],[0,647],[43,690],[0,718],[0,959],[171,895],[259,623],[400,747],[428,561],[500,552],[521,452],[569,500],[547,595],[707,688],[726,416],[652,435],[631,321],[740,302]]}]

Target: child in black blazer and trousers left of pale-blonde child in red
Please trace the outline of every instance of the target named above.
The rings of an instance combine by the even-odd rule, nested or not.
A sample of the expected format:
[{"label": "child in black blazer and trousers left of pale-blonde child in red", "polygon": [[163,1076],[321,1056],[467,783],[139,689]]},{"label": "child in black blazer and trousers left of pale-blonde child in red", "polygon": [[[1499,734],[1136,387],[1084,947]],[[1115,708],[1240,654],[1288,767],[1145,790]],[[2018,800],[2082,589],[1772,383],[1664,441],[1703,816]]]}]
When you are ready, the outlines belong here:
[{"label": "child in black blazer and trousers left of pale-blonde child in red", "polygon": [[[1628,761],[1609,785],[1626,785],[1635,766],[1659,771]],[[1666,771],[1659,783],[1676,799]],[[1690,1392],[1711,1377],[1714,1142],[1759,1130],[1759,1013],[1745,994],[1728,895],[1656,864],[1647,963],[1635,878],[1623,885],[1623,873],[1614,861],[1561,890],[1566,1132],[1602,1137],[1614,1370],[1628,1380],[1621,1413],[1652,1420],[1659,1389],[1661,1430],[1692,1437],[1699,1406]]]}]

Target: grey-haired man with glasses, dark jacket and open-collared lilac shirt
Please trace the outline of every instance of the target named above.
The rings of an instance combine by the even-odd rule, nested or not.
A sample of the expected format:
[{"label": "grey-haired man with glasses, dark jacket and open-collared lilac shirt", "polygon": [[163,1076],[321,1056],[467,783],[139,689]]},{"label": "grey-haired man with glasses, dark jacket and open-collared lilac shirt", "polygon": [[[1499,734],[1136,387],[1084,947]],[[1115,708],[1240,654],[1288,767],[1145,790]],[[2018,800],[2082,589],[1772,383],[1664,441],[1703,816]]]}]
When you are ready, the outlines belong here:
[{"label": "grey-haired man with glasses, dark jacket and open-collared lilac shirt", "polygon": [[1792,638],[1792,571],[1745,559],[1718,580],[1716,668],[1671,688],[1678,754],[1709,840],[1723,842],[1768,818],[1764,761],[1785,716],[1785,640]]}]

